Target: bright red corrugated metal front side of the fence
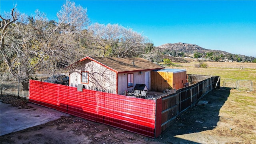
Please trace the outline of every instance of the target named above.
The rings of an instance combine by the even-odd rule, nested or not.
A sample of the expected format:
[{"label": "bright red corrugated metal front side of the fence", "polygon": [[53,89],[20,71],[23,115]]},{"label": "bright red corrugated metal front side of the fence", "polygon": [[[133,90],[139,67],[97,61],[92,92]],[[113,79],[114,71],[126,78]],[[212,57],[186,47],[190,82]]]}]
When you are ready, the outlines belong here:
[{"label": "bright red corrugated metal front side of the fence", "polygon": [[160,135],[161,124],[156,119],[161,119],[161,113],[156,116],[156,103],[161,104],[161,99],[146,100],[82,90],[30,80],[29,102],[144,136],[156,138]]}]

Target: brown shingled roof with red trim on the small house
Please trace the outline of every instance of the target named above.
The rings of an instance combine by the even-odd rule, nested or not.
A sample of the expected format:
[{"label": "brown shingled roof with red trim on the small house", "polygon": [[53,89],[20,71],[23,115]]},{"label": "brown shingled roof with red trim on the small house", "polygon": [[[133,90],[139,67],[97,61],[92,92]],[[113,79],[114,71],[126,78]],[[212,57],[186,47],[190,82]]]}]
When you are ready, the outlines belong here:
[{"label": "brown shingled roof with red trim on the small house", "polygon": [[[95,61],[117,73],[134,72],[142,70],[159,70],[164,67],[145,60],[144,58],[101,58],[101,57],[89,57],[86,56],[78,62],[82,62],[86,59]],[[77,63],[77,62],[76,62]]]}]

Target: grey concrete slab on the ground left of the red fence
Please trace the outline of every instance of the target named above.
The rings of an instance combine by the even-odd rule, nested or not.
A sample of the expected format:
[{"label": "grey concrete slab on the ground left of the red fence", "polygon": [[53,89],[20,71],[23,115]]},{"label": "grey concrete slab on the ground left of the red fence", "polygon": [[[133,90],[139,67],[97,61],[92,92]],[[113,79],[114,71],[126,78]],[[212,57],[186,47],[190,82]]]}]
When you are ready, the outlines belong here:
[{"label": "grey concrete slab on the ground left of the red fence", "polygon": [[69,116],[69,114],[44,106],[32,103],[28,105],[33,108],[19,109],[0,102],[0,136],[57,120],[61,116]]}]

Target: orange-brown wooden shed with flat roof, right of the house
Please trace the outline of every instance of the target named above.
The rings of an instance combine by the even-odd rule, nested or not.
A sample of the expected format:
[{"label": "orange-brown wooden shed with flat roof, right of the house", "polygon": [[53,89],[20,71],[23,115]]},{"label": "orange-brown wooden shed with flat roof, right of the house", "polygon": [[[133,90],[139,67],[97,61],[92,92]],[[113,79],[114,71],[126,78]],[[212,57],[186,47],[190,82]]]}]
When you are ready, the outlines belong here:
[{"label": "orange-brown wooden shed with flat roof, right of the house", "polygon": [[152,71],[151,88],[154,91],[163,92],[166,89],[183,88],[186,83],[187,72],[184,69],[170,69]]}]

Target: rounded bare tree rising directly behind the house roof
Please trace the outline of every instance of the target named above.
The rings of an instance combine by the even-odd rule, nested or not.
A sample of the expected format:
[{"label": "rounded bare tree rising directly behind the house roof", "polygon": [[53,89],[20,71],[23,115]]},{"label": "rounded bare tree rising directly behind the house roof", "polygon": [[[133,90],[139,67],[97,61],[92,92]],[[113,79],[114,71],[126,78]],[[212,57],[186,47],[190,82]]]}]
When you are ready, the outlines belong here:
[{"label": "rounded bare tree rising directly behind the house roof", "polygon": [[98,56],[138,57],[144,52],[148,39],[132,29],[118,24],[92,24],[88,27],[90,48]]}]

